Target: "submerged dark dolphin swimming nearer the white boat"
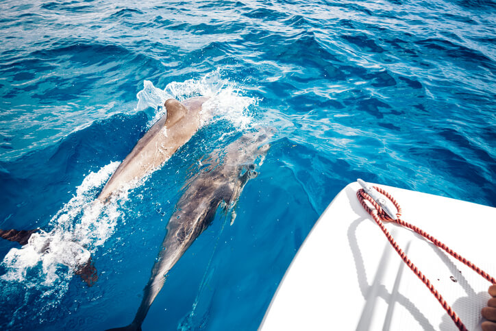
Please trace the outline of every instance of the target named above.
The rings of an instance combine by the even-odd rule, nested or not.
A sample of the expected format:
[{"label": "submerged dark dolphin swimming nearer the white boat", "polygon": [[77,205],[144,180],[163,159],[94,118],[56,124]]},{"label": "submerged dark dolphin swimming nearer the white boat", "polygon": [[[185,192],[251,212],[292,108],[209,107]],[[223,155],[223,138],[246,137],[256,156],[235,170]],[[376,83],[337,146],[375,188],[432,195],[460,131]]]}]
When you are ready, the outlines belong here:
[{"label": "submerged dark dolphin swimming nearer the white boat", "polygon": [[[169,219],[162,248],[143,290],[142,302],[134,320],[129,326],[110,330],[141,330],[153,300],[164,285],[166,274],[201,232],[208,228],[219,206],[226,213],[231,210],[234,221],[238,198],[247,181],[258,175],[255,167],[262,164],[269,149],[269,136],[271,133],[266,130],[241,136],[227,146],[221,162],[214,164],[213,169],[201,171],[190,180]],[[210,160],[218,160],[219,156],[222,156],[221,153],[214,151]]]}]

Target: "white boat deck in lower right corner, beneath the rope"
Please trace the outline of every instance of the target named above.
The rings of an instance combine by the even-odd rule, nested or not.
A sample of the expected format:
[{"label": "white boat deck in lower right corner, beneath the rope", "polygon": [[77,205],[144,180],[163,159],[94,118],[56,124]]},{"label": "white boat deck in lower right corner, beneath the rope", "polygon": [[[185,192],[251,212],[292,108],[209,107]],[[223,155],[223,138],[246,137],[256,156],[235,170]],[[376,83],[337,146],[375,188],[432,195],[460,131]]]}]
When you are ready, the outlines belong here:
[{"label": "white boat deck in lower right corner, beneath the rope", "polygon": [[[402,219],[496,277],[496,208],[381,187],[401,205]],[[363,210],[359,188],[346,186],[314,225],[260,330],[458,330]],[[465,326],[481,330],[489,282],[421,236],[386,228]]]}]

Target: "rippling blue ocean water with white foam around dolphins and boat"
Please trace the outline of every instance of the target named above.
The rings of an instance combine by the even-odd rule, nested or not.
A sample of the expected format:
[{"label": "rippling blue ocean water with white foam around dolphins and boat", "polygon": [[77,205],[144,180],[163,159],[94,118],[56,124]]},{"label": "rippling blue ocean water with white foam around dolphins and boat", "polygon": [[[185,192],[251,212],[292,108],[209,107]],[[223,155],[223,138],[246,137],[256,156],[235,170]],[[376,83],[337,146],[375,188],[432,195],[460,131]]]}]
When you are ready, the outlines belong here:
[{"label": "rippling blue ocean water with white foam around dolphins and boat", "polygon": [[[132,321],[195,164],[260,125],[275,136],[236,221],[218,212],[143,330],[256,330],[312,225],[357,177],[496,206],[494,1],[0,9],[0,228],[41,228],[38,239],[57,247],[0,241],[1,330]],[[140,186],[95,208],[158,104],[195,95],[211,97],[214,119]],[[94,286],[62,264],[74,262],[64,260],[71,243],[92,255]]]}]

